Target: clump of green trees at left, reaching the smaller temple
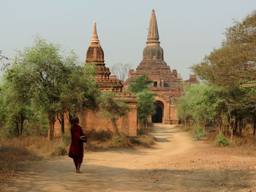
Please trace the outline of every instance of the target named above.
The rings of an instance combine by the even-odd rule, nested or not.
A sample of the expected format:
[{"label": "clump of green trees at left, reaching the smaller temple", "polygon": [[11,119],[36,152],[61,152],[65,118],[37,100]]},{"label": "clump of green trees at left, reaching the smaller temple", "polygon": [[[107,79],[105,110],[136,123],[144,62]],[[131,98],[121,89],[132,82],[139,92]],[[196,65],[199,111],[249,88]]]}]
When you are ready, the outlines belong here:
[{"label": "clump of green trees at left, reaching the smaller temple", "polygon": [[75,115],[84,109],[97,109],[95,72],[93,64],[79,66],[72,51],[65,57],[59,45],[36,37],[34,45],[18,51],[5,69],[0,88],[0,127],[16,136],[24,131],[45,134],[47,119],[48,138],[53,139],[56,118],[64,125],[64,118],[60,118],[64,112]]}]

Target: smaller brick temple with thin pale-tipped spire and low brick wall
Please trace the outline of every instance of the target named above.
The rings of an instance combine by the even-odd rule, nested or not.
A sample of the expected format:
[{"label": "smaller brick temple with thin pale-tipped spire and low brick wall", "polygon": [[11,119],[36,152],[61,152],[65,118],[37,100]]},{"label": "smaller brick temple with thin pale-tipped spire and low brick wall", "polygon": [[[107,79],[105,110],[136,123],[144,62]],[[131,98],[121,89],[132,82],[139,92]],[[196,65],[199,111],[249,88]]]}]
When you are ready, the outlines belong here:
[{"label": "smaller brick temple with thin pale-tipped spire and low brick wall", "polygon": [[[123,93],[123,81],[117,80],[116,75],[110,76],[110,71],[104,63],[104,52],[99,42],[97,35],[96,23],[94,22],[94,31],[91,37],[91,42],[86,53],[86,64],[95,64],[97,71],[95,80],[99,85],[99,89],[105,92],[112,92],[116,101],[124,101],[129,104],[132,110],[127,116],[119,118],[117,121],[118,130],[128,136],[137,136],[137,107],[138,100],[136,99],[135,93]],[[92,112],[86,110],[78,114],[80,119],[80,126],[83,131],[89,132],[92,129],[95,131],[112,131],[113,125],[108,118],[105,118],[101,111]],[[67,127],[69,120],[65,115],[65,127]],[[55,134],[61,134],[61,125],[56,121]]]}]

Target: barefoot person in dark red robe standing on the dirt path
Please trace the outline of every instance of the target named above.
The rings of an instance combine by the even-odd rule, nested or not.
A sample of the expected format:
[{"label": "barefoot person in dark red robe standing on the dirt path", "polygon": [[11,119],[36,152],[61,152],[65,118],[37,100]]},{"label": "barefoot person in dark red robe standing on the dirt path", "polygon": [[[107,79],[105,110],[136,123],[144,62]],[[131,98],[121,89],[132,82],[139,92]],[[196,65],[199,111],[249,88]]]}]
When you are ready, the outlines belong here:
[{"label": "barefoot person in dark red robe standing on the dirt path", "polygon": [[79,118],[72,118],[72,126],[70,128],[72,141],[69,148],[69,157],[73,158],[76,172],[82,173],[80,172],[80,166],[83,162],[83,142],[86,142],[87,138],[83,134],[82,128],[78,126],[78,124]]}]

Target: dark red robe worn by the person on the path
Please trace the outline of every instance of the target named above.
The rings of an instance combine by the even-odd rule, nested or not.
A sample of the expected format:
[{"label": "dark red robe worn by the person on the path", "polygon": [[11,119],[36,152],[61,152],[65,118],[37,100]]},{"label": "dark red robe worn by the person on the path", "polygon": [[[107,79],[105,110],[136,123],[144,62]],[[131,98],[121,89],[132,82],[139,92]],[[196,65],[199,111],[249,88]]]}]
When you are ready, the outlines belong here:
[{"label": "dark red robe worn by the person on the path", "polygon": [[83,162],[83,141],[80,136],[84,136],[82,128],[77,124],[73,124],[70,128],[72,142],[69,147],[69,157],[73,158],[75,163],[81,164]]}]

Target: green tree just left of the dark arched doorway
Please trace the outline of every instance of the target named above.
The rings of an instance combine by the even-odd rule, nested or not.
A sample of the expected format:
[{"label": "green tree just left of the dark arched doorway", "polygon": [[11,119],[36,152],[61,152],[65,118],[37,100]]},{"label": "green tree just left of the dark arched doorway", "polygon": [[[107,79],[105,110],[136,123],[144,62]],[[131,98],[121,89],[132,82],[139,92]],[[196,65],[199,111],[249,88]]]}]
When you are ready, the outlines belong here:
[{"label": "green tree just left of the dark arched doorway", "polygon": [[132,81],[127,90],[128,92],[136,93],[136,98],[138,99],[138,123],[143,123],[144,127],[148,122],[148,116],[154,115],[156,112],[156,107],[154,106],[155,94],[151,93],[148,88],[148,85],[152,82],[146,74],[142,74]]}]

